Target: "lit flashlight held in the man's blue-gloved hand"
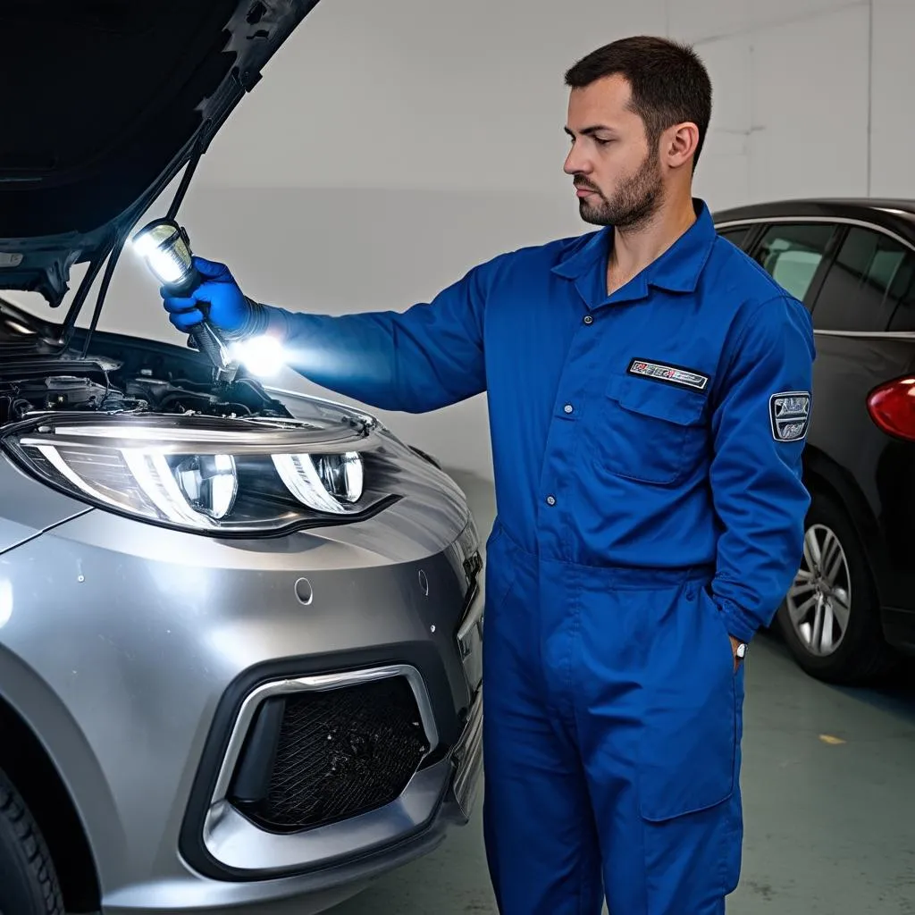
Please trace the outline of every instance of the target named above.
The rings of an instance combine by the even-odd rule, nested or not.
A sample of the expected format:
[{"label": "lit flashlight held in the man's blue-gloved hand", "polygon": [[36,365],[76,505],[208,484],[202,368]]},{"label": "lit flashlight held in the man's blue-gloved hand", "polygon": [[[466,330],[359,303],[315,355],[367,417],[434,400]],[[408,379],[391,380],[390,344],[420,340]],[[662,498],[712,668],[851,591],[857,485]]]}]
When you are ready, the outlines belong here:
[{"label": "lit flashlight held in the man's blue-gloved hand", "polygon": [[[167,292],[188,296],[200,283],[200,274],[191,259],[190,239],[183,226],[174,220],[147,223],[133,238],[136,253]],[[190,337],[209,357],[221,378],[231,381],[231,358],[219,331],[207,320],[207,305],[199,302],[203,320],[190,329]]]}]

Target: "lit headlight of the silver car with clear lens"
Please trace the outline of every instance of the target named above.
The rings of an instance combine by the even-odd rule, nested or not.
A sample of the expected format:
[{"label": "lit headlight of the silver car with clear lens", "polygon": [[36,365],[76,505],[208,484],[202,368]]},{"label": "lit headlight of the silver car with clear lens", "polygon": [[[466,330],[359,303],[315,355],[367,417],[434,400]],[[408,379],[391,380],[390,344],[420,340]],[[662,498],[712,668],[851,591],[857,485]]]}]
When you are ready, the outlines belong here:
[{"label": "lit headlight of the silver car with clear lens", "polygon": [[[371,430],[297,420],[60,414],[12,427],[5,452],[67,494],[137,519],[220,536],[355,521],[397,497]],[[377,458],[383,464],[383,458]]]}]

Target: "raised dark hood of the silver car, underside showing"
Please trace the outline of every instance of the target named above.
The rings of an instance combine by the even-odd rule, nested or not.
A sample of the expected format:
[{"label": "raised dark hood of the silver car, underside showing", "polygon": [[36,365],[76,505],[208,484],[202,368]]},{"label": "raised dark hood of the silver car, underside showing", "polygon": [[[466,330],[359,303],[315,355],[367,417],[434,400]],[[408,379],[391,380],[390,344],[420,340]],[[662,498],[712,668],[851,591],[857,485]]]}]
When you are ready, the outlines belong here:
[{"label": "raised dark hood of the silver car, underside showing", "polygon": [[73,264],[124,242],[317,4],[0,5],[0,289],[58,307]]}]

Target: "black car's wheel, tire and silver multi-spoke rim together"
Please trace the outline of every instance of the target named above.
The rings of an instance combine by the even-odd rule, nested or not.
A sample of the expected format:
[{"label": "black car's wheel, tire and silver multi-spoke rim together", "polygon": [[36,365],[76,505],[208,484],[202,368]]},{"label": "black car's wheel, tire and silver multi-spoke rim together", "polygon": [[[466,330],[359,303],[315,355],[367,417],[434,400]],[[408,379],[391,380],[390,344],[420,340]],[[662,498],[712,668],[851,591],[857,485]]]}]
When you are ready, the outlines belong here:
[{"label": "black car's wheel, tire and silver multi-spoke rim together", "polygon": [[845,511],[822,492],[812,492],[804,533],[802,565],[777,615],[788,649],[818,680],[873,682],[896,666],[898,655],[883,637],[864,548]]}]

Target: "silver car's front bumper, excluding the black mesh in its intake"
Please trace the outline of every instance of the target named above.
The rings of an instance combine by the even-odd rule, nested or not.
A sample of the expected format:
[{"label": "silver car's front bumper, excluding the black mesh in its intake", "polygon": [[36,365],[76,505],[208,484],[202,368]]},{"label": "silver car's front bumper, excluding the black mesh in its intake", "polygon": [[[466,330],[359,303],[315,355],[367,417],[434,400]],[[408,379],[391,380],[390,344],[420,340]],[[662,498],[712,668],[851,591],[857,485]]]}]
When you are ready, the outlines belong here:
[{"label": "silver car's front bumper, excluding the black mesh in its intake", "polygon": [[[70,791],[105,915],[325,911],[467,822],[482,619],[462,562],[478,544],[416,511],[231,544],[90,511],[0,555],[0,684]],[[403,795],[310,835],[236,816],[221,792],[246,708],[380,671],[408,674],[426,709]]]}]

